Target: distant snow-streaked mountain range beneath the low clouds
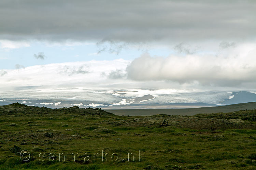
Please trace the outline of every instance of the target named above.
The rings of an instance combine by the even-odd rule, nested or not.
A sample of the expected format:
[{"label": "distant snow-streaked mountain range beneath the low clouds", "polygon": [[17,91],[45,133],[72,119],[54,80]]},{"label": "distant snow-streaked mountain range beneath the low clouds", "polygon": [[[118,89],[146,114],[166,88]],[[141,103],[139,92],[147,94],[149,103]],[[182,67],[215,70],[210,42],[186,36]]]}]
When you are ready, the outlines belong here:
[{"label": "distant snow-streaked mountain range beneath the low clouds", "polygon": [[195,108],[255,102],[252,91],[173,92],[168,89],[87,90],[53,89],[0,92],[0,105],[14,102],[29,106],[79,106],[104,109]]}]

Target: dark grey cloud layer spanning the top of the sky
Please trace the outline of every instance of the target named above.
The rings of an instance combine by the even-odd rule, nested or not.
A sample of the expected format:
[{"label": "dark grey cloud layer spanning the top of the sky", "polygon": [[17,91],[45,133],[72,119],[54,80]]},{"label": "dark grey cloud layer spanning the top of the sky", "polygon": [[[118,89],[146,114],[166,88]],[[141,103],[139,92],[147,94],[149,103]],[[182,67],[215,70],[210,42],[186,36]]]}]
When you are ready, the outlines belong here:
[{"label": "dark grey cloud layer spanning the top of the sky", "polygon": [[0,37],[126,43],[235,41],[255,38],[255,9],[256,1],[250,0],[1,0]]}]

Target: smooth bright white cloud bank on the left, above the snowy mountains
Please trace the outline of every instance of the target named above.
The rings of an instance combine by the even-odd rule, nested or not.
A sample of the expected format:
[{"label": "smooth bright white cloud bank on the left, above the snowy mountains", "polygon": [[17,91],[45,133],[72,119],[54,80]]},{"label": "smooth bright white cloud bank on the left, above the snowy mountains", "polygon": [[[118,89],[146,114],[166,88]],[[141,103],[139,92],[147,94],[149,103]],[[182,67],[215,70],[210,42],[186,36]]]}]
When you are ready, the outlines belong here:
[{"label": "smooth bright white cloud bank on the left, above the snowy mountains", "polygon": [[[53,63],[28,66],[26,69],[9,69],[8,76],[1,77],[1,89],[37,89],[58,87],[112,88],[129,87],[130,80],[109,79],[113,70],[125,70],[130,61],[86,61]],[[105,72],[105,77],[101,73]],[[121,85],[120,85],[121,84]]]}]

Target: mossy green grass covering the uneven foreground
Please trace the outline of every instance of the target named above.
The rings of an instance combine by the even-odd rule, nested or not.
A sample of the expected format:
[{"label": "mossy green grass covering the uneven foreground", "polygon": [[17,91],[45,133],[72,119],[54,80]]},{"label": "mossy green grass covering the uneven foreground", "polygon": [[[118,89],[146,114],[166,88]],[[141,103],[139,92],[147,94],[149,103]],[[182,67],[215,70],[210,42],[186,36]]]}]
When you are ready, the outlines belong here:
[{"label": "mossy green grass covering the uneven foreground", "polygon": [[[9,112],[13,109],[16,109],[17,112]],[[26,112],[27,109],[30,109],[29,112]],[[216,116],[209,118],[205,115],[202,118],[196,117],[196,120],[195,116],[153,116],[152,120],[154,121],[158,118],[170,118],[168,119],[169,123],[171,120],[178,120],[178,122],[161,126],[159,122],[162,119],[156,123],[146,119],[142,126],[139,123],[143,122],[145,118],[151,117],[115,116],[97,109],[77,110],[76,107],[73,109],[77,112],[72,111],[72,108],[69,109],[70,112],[62,109],[65,111],[62,113],[57,109],[23,105],[1,106],[0,169],[215,170],[225,168],[228,170],[252,170],[256,168],[254,121],[242,121],[243,126],[238,126],[239,129],[230,129],[228,127],[236,127],[236,125],[226,126],[227,123],[223,123],[222,127],[211,130],[215,124],[211,127],[209,125],[208,129],[205,129],[208,126],[201,126],[201,124],[204,123],[203,121],[216,121]],[[45,110],[47,110],[47,114]],[[95,114],[96,112],[97,114]],[[246,117],[243,112],[238,112],[237,115],[243,114]],[[252,112],[250,114],[252,115]],[[134,124],[136,122],[134,118],[138,118],[138,124]],[[189,124],[190,120],[198,122],[199,119],[198,126],[195,122]],[[179,124],[179,120],[181,124]],[[182,124],[184,120],[188,121]],[[11,126],[12,123],[15,125]],[[102,128],[112,131],[97,130]],[[46,133],[53,135],[47,137]],[[10,149],[14,145],[22,150],[28,150],[31,161],[22,162],[19,152],[11,152]],[[105,160],[102,162],[102,150],[109,153],[106,156],[108,162]],[[138,159],[139,150],[141,150],[140,161]],[[54,153],[57,160],[49,161],[49,156],[46,156],[42,161],[42,157],[39,157],[41,152],[45,153],[45,156]],[[62,159],[62,162],[59,162],[59,153],[63,152],[68,154],[67,157],[69,157],[69,153],[81,153],[81,155],[90,153],[90,161],[78,163],[70,161],[68,158],[66,161]],[[135,153],[135,161],[128,162],[128,153],[132,152]],[[94,161],[94,153],[99,153],[96,161]],[[113,153],[118,154],[117,161],[111,160]]]}]

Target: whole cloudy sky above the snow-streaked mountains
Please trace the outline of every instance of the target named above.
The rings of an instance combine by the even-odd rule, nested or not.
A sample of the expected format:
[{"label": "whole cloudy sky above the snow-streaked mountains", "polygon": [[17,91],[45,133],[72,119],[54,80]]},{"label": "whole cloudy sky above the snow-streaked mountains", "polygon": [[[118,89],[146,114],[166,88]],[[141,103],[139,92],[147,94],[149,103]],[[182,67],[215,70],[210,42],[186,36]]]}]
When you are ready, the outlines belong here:
[{"label": "whole cloudy sky above the snow-streaked mountains", "polygon": [[256,1],[1,0],[0,89],[256,89]]}]

